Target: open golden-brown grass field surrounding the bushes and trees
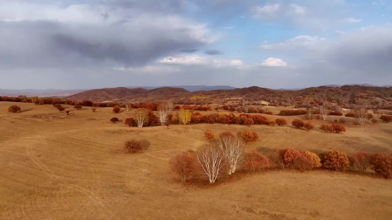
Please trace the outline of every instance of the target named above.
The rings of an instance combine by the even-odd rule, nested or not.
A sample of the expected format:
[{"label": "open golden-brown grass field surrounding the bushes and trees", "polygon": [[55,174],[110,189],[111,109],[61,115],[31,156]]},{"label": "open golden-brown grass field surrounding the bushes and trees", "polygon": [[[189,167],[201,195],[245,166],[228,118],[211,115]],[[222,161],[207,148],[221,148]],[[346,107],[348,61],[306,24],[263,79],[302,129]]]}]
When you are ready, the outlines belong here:
[{"label": "open golden-brown grass field surrounding the bushes and trees", "polygon": [[[21,113],[7,112],[18,105]],[[66,106],[66,105],[64,105]],[[264,108],[265,106],[263,106]],[[129,128],[131,112],[112,108],[91,112],[67,106],[0,102],[1,219],[390,219],[392,181],[332,171],[274,171],[244,175],[215,187],[178,184],[169,159],[197,150],[216,134],[252,130],[260,140],[245,150],[264,154],[279,148],[323,153],[358,150],[392,152],[392,124],[345,125],[347,132],[254,125],[194,124]],[[281,107],[268,106],[274,114]],[[201,112],[201,114],[212,113]],[[279,116],[264,115],[270,119]],[[120,122],[109,122],[118,117]],[[285,117],[289,122],[302,116]],[[330,116],[328,120],[339,119]],[[147,149],[123,154],[128,139],[142,139]]]}]

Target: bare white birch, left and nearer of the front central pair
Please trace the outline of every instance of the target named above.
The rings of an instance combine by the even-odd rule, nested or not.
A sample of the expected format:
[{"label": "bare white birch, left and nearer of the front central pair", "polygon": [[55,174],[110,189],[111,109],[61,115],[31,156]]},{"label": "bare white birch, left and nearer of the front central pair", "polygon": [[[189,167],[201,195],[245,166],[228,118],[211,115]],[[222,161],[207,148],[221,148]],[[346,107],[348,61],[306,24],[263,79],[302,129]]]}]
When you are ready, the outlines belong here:
[{"label": "bare white birch, left and nearer of the front central pair", "polygon": [[196,160],[210,183],[214,183],[222,175],[225,159],[219,148],[214,146],[201,148],[196,156]]}]

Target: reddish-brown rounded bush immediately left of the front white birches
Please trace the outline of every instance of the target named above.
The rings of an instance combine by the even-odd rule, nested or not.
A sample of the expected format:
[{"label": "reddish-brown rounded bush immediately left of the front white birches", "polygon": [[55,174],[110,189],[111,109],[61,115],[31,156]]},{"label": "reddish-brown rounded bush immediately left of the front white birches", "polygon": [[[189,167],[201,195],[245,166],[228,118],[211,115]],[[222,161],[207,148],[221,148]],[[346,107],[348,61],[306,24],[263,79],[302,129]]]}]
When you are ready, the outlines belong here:
[{"label": "reddish-brown rounded bush immediately left of the front white birches", "polygon": [[196,158],[192,153],[178,153],[169,161],[171,170],[180,177],[181,182],[193,175],[196,170]]}]

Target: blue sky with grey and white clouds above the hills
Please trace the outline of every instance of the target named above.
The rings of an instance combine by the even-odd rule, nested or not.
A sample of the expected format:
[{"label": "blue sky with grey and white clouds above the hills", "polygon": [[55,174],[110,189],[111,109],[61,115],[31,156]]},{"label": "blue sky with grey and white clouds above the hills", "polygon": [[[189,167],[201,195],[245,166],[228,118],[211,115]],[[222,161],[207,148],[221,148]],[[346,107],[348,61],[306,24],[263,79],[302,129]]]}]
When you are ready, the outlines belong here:
[{"label": "blue sky with grey and white clouds above the hills", "polygon": [[392,84],[392,0],[0,0],[0,88]]}]

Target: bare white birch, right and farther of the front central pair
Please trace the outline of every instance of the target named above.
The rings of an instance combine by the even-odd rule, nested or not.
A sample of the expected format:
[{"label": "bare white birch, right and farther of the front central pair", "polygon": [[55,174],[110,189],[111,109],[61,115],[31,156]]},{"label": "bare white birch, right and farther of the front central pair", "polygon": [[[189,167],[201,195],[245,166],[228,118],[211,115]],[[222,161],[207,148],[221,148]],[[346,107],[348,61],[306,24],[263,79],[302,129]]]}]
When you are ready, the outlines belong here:
[{"label": "bare white birch, right and farther of the front central pair", "polygon": [[238,138],[223,137],[218,141],[218,146],[228,166],[227,174],[231,175],[236,171],[237,164],[240,163],[243,142]]}]

